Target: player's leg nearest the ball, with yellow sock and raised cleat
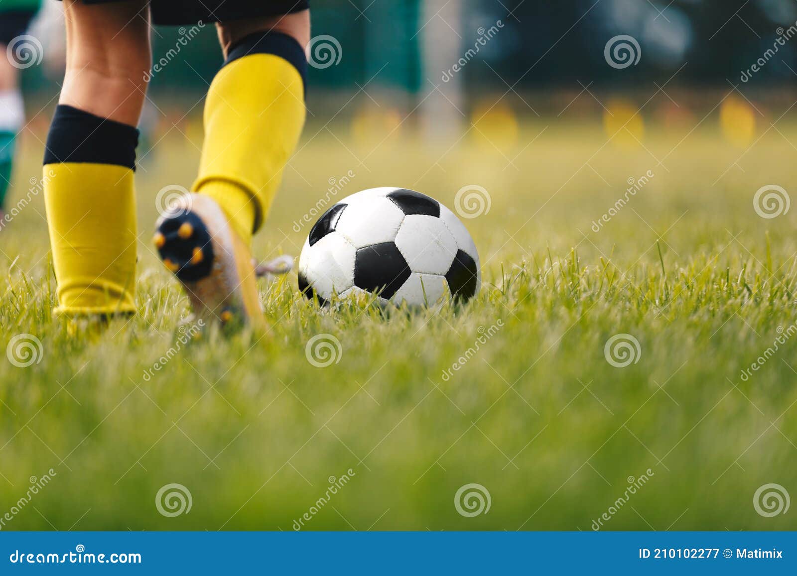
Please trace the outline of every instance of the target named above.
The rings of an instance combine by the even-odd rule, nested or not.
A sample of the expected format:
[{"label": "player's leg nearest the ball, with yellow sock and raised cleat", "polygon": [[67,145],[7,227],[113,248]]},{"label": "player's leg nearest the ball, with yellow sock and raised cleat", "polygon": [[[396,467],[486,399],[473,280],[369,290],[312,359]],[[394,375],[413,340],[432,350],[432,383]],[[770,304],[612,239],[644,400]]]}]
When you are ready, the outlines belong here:
[{"label": "player's leg nearest the ball, with yellow sock and raised cleat", "polygon": [[[160,221],[155,244],[200,315],[257,322],[262,313],[249,244],[304,125],[310,18],[303,10],[221,22],[218,34],[226,61],[205,104],[193,213]],[[226,222],[219,224],[219,215]],[[214,241],[204,241],[208,236]],[[210,260],[212,270],[224,273],[214,276]]]}]

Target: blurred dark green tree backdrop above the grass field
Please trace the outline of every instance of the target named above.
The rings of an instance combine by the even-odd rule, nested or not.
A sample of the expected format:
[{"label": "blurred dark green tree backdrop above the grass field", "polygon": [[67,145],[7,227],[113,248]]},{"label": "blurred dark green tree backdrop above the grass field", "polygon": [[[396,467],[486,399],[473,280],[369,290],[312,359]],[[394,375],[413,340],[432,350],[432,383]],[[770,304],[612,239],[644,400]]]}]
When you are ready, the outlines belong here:
[{"label": "blurred dark green tree backdrop above the grass field", "polygon": [[[739,84],[762,58],[751,84],[797,80],[794,0],[452,0],[456,17],[445,26],[429,25],[430,13],[446,19],[451,8],[440,2],[434,15],[434,2],[314,0],[312,34],[335,38],[341,57],[336,65],[309,69],[310,89],[356,91],[376,76],[372,86],[426,91],[443,70],[425,65],[422,42],[456,42],[454,53],[464,57],[481,31],[499,21],[500,31],[462,67],[465,92],[501,87],[496,74],[517,83],[516,90],[572,88],[576,80],[625,88],[675,72],[673,84]],[[638,65],[607,65],[604,48],[620,34],[638,41]],[[155,64],[167,59],[152,75],[155,92],[204,92],[222,65],[213,25],[159,27],[152,38]],[[40,70],[26,76],[29,88],[45,85]]]}]

